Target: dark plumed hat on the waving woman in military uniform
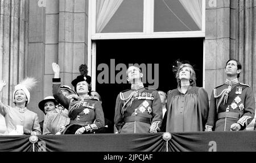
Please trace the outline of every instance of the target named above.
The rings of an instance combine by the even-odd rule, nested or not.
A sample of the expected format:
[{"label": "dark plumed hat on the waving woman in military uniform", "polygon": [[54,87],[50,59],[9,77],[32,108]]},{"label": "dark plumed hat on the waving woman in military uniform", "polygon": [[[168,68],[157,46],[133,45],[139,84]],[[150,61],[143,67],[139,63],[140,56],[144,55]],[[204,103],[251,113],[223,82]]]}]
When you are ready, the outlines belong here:
[{"label": "dark plumed hat on the waving woman in military uniform", "polygon": [[75,87],[75,89],[76,89],[77,83],[79,83],[81,81],[86,81],[88,84],[90,84],[90,82],[92,81],[92,78],[87,75],[88,67],[86,64],[82,64],[79,66],[79,72],[81,75],[77,76],[76,79],[71,82],[72,85]]}]

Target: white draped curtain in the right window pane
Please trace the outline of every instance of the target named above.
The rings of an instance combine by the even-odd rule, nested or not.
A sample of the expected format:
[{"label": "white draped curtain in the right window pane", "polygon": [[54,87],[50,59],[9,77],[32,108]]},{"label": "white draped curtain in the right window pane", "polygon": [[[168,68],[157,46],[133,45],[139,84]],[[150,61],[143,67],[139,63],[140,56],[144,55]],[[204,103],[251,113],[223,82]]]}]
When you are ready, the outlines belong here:
[{"label": "white draped curtain in the right window pane", "polygon": [[202,28],[202,0],[179,0],[188,14],[196,22],[197,26]]}]

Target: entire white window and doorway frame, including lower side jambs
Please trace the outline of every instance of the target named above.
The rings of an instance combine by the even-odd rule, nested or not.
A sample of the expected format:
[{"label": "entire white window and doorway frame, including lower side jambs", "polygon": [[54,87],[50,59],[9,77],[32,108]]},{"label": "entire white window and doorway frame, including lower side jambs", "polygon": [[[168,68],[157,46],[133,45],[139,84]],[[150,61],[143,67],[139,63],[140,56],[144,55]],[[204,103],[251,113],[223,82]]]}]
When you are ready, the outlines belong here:
[{"label": "entire white window and doorway frame, including lower side jambs", "polygon": [[[88,74],[92,77],[92,89],[96,90],[96,41],[109,39],[155,39],[205,37],[205,0],[202,0],[201,31],[154,32],[154,2],[143,0],[143,32],[96,33],[96,1],[88,2]],[[203,47],[203,87],[205,87],[205,40]]]}]

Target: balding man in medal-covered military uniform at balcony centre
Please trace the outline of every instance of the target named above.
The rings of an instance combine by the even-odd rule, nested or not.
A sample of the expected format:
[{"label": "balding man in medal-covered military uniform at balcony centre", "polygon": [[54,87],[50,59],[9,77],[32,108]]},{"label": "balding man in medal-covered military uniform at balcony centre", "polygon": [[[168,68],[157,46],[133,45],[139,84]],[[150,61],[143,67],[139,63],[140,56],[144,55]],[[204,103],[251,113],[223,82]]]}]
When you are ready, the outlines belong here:
[{"label": "balding man in medal-covered military uniform at balcony centre", "polygon": [[162,124],[162,105],[158,91],[145,88],[138,67],[127,69],[131,89],[118,94],[114,123],[118,133],[159,132]]}]

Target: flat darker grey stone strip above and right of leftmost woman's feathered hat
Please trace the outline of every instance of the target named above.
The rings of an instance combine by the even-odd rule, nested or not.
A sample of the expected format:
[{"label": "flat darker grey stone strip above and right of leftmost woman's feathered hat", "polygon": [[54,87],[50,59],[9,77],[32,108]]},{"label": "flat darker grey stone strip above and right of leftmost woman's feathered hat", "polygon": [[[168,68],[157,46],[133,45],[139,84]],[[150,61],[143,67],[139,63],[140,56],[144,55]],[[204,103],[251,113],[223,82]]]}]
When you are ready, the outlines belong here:
[{"label": "flat darker grey stone strip above and right of leftmost woman's feathered hat", "polygon": [[44,114],[38,108],[38,103],[44,97],[44,54],[46,51],[46,1],[30,1],[29,26],[28,26],[28,57],[27,74],[35,77],[38,81],[31,93],[30,110],[39,116],[39,122],[44,118]]}]

